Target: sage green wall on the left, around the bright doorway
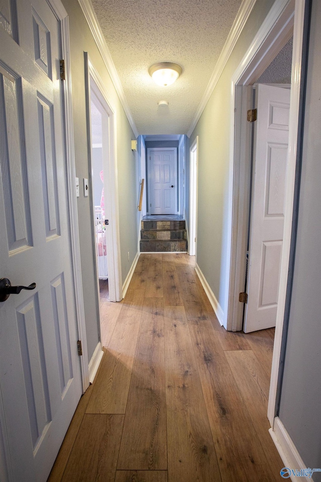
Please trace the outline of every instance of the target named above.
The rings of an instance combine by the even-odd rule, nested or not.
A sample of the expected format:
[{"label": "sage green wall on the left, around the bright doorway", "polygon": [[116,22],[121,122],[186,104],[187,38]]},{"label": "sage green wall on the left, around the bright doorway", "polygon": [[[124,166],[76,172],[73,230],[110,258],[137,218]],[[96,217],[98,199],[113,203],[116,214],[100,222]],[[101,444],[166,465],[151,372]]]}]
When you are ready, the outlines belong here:
[{"label": "sage green wall on the left, around the bright doorway", "polygon": [[[80,197],[78,223],[80,239],[81,272],[89,360],[98,343],[98,294],[94,272],[94,246],[92,240],[92,213],[90,196],[83,195],[83,178],[90,178],[88,162],[84,52],[98,71],[116,111],[117,169],[119,193],[119,230],[121,273],[124,281],[137,253],[135,157],[130,141],[135,139],[106,66],[101,58],[77,0],[62,0],[69,16],[70,60],[72,79],[72,107],[75,139],[76,176],[79,177]],[[127,253],[129,252],[129,261]]]}]

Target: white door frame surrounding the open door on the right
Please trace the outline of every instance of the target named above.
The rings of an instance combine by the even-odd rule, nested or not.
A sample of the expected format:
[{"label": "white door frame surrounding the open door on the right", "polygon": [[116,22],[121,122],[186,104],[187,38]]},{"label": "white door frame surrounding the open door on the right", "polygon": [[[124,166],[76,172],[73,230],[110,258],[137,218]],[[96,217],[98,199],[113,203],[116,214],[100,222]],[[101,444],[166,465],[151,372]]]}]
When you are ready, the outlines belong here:
[{"label": "white door frame surrounding the open door on the right", "polygon": [[[305,0],[276,0],[261,28],[254,37],[248,51],[241,63],[235,70],[231,85],[231,132],[230,132],[230,167],[229,167],[229,239],[230,239],[230,262],[227,266],[227,279],[229,284],[226,290],[228,312],[225,324],[227,329],[236,331],[240,329],[238,304],[235,294],[240,285],[240,270],[244,270],[245,256],[240,262],[240,249],[242,247],[242,235],[247,230],[248,208],[245,201],[244,165],[242,159],[246,156],[244,142],[244,129],[247,131],[246,120],[240,121],[237,109],[246,100],[242,99],[242,86],[251,85],[264,72],[265,68],[273,60],[291,36],[293,29],[292,50],[292,74],[291,74],[291,98],[290,98],[290,124],[289,124],[289,147],[286,173],[285,215],[282,245],[282,260],[280,269],[280,285],[278,291],[278,308],[276,315],[276,328],[273,347],[272,372],[270,380],[270,392],[268,402],[268,419],[273,428],[277,408],[278,380],[281,364],[281,345],[283,333],[283,321],[286,303],[286,291],[288,281],[288,268],[290,262],[290,242],[292,231],[293,200],[295,193],[295,168],[297,156],[297,139],[300,114],[300,88],[302,49],[305,26]],[[243,129],[243,139],[242,139]],[[245,135],[246,139],[246,135]],[[247,213],[246,213],[247,210]],[[233,222],[234,221],[234,222]],[[243,291],[241,289],[240,291]],[[238,298],[237,298],[238,299]]]}]

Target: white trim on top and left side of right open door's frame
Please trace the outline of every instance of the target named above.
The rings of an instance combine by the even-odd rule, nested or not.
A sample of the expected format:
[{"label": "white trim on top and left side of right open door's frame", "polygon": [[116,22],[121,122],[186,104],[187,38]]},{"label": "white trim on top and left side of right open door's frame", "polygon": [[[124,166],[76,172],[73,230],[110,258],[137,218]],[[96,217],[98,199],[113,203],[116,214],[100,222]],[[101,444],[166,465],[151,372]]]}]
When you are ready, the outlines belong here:
[{"label": "white trim on top and left side of right open door's frame", "polygon": [[[299,1],[301,2],[302,0]],[[229,298],[235,296],[237,291],[243,291],[243,287],[240,289],[239,286],[239,271],[244,271],[245,269],[245,256],[243,256],[244,259],[240,259],[242,253],[238,255],[236,255],[236,253],[240,248],[241,241],[239,238],[243,235],[243,230],[247,230],[247,216],[246,214],[242,216],[240,210],[248,209],[248,207],[244,205],[245,202],[247,202],[246,196],[244,199],[242,198],[242,186],[238,185],[239,180],[237,179],[237,174],[239,174],[238,170],[244,169],[238,148],[242,149],[245,146],[237,145],[239,132],[235,131],[235,125],[237,126],[235,107],[239,107],[237,104],[239,103],[239,95],[241,94],[237,94],[236,86],[249,85],[264,72],[265,68],[274,58],[273,56],[278,53],[286,42],[286,39],[291,36],[293,20],[294,0],[276,0],[232,76],[228,199],[229,246],[227,247],[227,251],[230,253],[230,259],[226,265],[226,279],[229,280],[229,282],[226,285],[225,306],[227,306],[227,311],[224,317],[224,326],[228,330],[241,329],[241,320],[238,319],[240,311],[235,307],[236,302],[233,304]],[[245,119],[243,122],[246,123]],[[242,202],[244,204],[242,204]],[[237,229],[235,229],[237,222],[239,225]]]}]

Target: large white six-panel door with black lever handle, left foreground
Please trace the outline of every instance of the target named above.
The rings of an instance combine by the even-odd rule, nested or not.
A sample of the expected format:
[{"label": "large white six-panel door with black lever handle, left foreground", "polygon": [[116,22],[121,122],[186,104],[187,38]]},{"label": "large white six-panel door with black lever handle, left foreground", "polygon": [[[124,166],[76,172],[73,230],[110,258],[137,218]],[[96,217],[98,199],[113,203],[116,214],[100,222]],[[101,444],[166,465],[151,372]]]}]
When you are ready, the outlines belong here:
[{"label": "large white six-panel door with black lever handle, left foreground", "polygon": [[60,31],[45,0],[0,9],[0,278],[37,284],[0,303],[2,470],[45,482],[82,393]]}]

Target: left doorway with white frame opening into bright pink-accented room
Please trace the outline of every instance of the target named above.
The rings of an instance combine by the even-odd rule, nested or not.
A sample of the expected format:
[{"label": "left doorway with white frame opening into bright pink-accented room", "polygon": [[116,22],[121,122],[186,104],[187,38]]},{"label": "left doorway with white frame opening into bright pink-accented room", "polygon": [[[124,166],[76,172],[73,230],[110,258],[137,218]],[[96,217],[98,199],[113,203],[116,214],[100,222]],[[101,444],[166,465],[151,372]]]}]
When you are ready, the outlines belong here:
[{"label": "left doorway with white frame opening into bright pink-accented room", "polygon": [[115,115],[109,94],[85,53],[87,65],[87,123],[90,132],[89,192],[92,209],[92,242],[97,279],[97,312],[100,340],[108,327],[102,324],[101,304],[122,299],[120,272]]}]

